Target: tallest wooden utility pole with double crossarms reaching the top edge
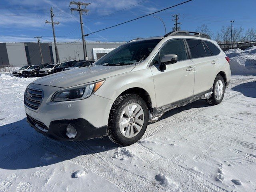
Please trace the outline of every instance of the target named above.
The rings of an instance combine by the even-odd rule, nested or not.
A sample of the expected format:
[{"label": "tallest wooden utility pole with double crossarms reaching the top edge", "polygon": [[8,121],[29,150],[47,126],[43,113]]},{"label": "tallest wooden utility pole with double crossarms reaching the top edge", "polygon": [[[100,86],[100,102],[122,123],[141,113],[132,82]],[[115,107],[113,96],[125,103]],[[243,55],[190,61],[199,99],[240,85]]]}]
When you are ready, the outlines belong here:
[{"label": "tallest wooden utility pole with double crossarms reaching the top edge", "polygon": [[[69,6],[71,4],[77,5],[77,8],[71,8],[71,13],[73,13],[73,11],[78,11],[79,15],[80,15],[80,25],[81,25],[81,32],[82,32],[82,41],[83,41],[83,50],[84,50],[84,60],[88,60],[87,57],[87,51],[86,51],[86,44],[85,44],[85,39],[84,39],[84,27],[83,27],[83,19],[82,19],[82,15],[85,13],[87,14],[87,12],[89,11],[88,9],[85,9],[86,6],[88,6],[90,3],[81,3],[81,2],[70,2]],[[81,6],[85,6],[84,9],[81,9]]]}]

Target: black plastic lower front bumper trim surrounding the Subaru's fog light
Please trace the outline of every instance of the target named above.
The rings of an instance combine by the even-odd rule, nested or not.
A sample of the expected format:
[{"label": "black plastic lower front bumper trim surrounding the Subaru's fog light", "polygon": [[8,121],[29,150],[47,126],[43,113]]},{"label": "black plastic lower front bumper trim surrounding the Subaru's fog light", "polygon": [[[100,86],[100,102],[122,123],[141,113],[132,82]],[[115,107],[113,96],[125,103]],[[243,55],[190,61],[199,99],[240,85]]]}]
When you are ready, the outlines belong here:
[{"label": "black plastic lower front bumper trim surrounding the Subaru's fog light", "polygon": [[[88,139],[94,139],[108,134],[108,126],[103,126],[100,128],[94,127],[85,119],[72,119],[72,120],[57,120],[50,123],[49,128],[42,126],[41,122],[31,118],[27,114],[27,122],[32,126],[37,132],[44,134],[49,138],[54,140],[68,140],[68,141],[82,141]],[[72,125],[76,128],[77,134],[75,138],[68,138],[66,136],[66,127]],[[40,126],[40,128],[38,128]]]}]

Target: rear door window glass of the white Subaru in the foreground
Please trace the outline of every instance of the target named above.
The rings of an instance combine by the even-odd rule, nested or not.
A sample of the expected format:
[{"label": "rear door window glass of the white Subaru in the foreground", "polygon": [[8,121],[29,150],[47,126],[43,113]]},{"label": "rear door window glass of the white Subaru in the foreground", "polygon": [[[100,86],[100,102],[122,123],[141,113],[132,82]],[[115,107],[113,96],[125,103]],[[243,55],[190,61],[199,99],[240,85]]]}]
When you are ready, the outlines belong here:
[{"label": "rear door window glass of the white Subaru in the foreground", "polygon": [[206,52],[201,40],[187,39],[192,58],[205,57]]}]

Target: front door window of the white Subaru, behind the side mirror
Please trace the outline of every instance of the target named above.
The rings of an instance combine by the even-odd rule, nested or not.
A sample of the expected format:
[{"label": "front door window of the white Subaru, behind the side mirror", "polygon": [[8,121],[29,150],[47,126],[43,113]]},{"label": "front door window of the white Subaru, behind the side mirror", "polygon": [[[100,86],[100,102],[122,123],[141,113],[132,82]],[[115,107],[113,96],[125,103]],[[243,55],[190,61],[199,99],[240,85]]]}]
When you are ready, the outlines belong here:
[{"label": "front door window of the white Subaru, behind the side mirror", "polygon": [[160,59],[164,55],[175,54],[178,55],[178,61],[186,60],[187,52],[182,39],[175,39],[167,42],[160,50]]}]

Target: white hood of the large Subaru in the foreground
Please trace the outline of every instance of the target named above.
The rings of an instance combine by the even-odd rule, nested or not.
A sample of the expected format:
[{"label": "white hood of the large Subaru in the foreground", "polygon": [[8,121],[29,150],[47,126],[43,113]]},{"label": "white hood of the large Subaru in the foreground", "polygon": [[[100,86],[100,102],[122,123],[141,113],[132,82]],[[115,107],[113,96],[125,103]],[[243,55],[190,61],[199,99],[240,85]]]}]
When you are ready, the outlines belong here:
[{"label": "white hood of the large Subaru in the foreground", "polygon": [[124,74],[133,70],[135,65],[127,66],[90,66],[58,72],[32,82],[46,86],[68,88],[88,82],[93,82],[111,76]]}]

